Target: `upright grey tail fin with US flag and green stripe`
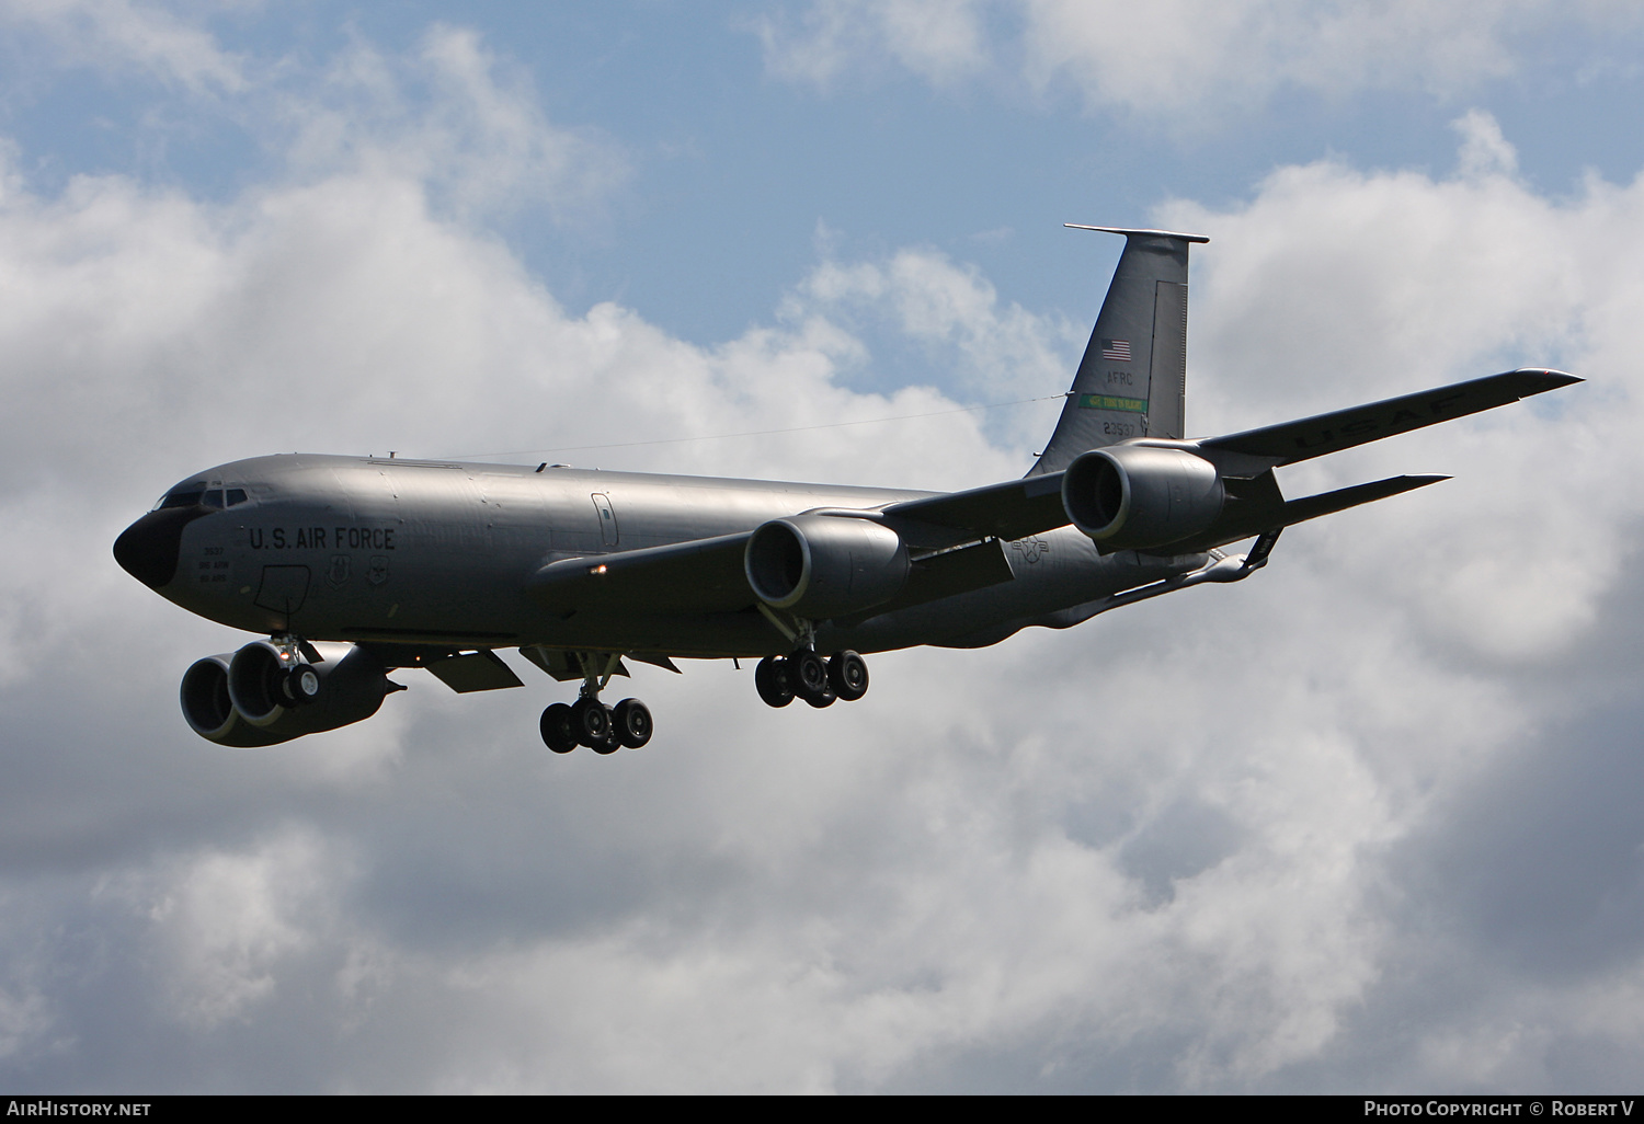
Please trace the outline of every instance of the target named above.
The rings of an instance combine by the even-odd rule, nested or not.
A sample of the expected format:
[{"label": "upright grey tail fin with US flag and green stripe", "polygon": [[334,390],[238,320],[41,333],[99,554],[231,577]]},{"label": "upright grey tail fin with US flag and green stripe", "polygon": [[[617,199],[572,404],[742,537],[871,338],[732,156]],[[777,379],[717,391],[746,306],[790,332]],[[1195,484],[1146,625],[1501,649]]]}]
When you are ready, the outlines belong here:
[{"label": "upright grey tail fin with US flag and green stripe", "polygon": [[1185,437],[1187,246],[1205,235],[1083,227],[1124,235],[1074,389],[1029,477],[1126,437]]}]

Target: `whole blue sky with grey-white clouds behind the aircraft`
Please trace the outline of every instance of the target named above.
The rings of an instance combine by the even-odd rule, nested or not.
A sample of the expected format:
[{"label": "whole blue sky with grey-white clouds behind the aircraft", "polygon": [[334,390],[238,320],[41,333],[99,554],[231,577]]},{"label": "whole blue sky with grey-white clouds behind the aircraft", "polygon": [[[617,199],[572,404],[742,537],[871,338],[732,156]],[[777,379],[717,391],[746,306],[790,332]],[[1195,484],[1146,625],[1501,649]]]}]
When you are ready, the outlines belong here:
[{"label": "whole blue sky with grey-white clouds behind the aircraft", "polygon": [[[0,0],[0,1088],[1637,1089],[1641,107],[1621,0]],[[852,707],[643,667],[557,758],[508,654],[184,726],[247,638],[110,557],[174,480],[1009,478],[1120,250],[1062,222],[1210,235],[1194,434],[1590,381]]]}]

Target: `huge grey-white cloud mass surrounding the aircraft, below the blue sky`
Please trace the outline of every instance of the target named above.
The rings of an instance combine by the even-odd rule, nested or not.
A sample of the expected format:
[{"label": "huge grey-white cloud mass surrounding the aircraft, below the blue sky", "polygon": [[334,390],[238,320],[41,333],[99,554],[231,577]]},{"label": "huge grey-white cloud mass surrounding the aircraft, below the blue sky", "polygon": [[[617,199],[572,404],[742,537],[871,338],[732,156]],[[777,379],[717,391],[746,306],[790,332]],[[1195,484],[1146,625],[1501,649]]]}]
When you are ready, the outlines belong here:
[{"label": "huge grey-white cloud mass surrounding the aircraft, below the blue sky", "polygon": [[[1636,927],[1595,930],[1598,958],[1529,930],[1565,978],[1481,979],[1463,970],[1499,933],[1452,891],[1506,868],[1401,850],[1496,845],[1504,828],[1462,830],[1458,808],[1494,807],[1516,761],[1585,753],[1559,723],[1616,710],[1593,687],[1626,652],[1605,629],[1637,631],[1644,187],[1544,199],[1483,115],[1450,179],[1325,161],[1245,205],[1162,209],[1213,237],[1194,266],[1198,432],[1521,362],[1595,375],[1297,473],[1458,478],[1289,531],[1248,583],[876,656],[870,697],[827,712],[760,707],[746,670],[641,667],[658,738],[610,759],[534,744],[561,690],[541,677],[455,697],[408,672],[391,713],[271,751],[187,733],[178,675],[233,638],[107,550],[206,463],[944,409],[932,388],[848,389],[871,358],[858,325],[1024,388],[1072,330],[917,248],[825,260],[773,325],[712,347],[615,304],[570,314],[429,204],[434,156],[473,136],[546,159],[541,118],[475,77],[477,43],[429,44],[450,76],[429,112],[396,108],[388,81],[380,117],[342,122],[357,141],[229,202],[120,177],[0,200],[0,889],[30,902],[0,912],[8,1073],[117,1078],[130,1050],[110,1043],[145,1042],[171,1088],[260,1088],[278,1060],[312,1089],[1245,1089],[1381,1048],[1435,983],[1457,997],[1388,1047],[1389,1083],[1488,1081],[1526,1053],[1557,1083],[1562,1045],[1636,1040],[1624,1004],[1593,1002],[1636,991]],[[329,127],[312,120],[304,136]],[[335,156],[362,148],[393,158]],[[569,458],[927,486],[1024,467],[965,414],[904,434]],[[1608,817],[1606,840],[1634,820]],[[1549,881],[1596,866],[1606,901],[1636,894],[1631,851],[1547,861]],[[44,968],[23,955],[39,948]],[[1512,1039],[1526,1011],[1537,1030]]]}]

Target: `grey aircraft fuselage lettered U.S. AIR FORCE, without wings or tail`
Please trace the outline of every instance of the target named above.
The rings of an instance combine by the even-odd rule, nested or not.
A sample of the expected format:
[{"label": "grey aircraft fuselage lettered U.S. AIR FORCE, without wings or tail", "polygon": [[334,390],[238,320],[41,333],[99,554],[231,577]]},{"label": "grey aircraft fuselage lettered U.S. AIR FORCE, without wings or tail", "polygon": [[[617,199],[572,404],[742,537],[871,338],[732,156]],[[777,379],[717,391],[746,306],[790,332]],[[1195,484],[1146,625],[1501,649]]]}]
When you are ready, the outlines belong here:
[{"label": "grey aircraft fuselage lettered U.S. AIR FORCE, without wings or tail", "polygon": [[[210,504],[159,508],[143,550],[178,605],[252,633],[454,647],[544,646],[769,656],[792,643],[760,613],[556,613],[538,569],[713,536],[817,508],[875,509],[934,493],[585,468],[278,455],[179,483]],[[227,498],[224,498],[227,496]],[[243,496],[243,498],[242,498]],[[141,536],[143,523],[132,532]],[[173,547],[174,544],[174,547]],[[1072,527],[1004,544],[1013,580],[824,626],[829,649],[995,643],[1057,610],[1203,565],[1205,555],[1101,557]],[[135,570],[133,570],[135,572]],[[141,575],[140,575],[141,577]],[[145,578],[148,580],[148,578]],[[153,582],[151,582],[153,583]]]}]

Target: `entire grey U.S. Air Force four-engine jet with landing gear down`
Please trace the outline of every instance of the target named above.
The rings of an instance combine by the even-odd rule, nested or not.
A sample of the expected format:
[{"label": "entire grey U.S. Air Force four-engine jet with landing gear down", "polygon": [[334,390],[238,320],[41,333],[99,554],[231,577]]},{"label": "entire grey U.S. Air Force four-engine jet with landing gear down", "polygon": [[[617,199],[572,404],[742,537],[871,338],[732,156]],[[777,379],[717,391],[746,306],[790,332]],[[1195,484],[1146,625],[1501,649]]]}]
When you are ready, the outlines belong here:
[{"label": "entire grey U.S. Air Force four-engine jet with landing gear down", "polygon": [[[1069,223],[1074,225],[1074,223]],[[983,647],[1031,624],[1240,582],[1279,532],[1445,480],[1286,500],[1274,468],[1582,380],[1516,370],[1223,437],[1185,439],[1187,250],[1124,235],[1055,432],[1021,480],[968,491],[722,480],[567,465],[281,455],[189,477],[115,541],[161,597],[268,639],[182,675],[202,738],[268,746],[360,721],[426,667],[459,692],[520,687],[518,647],[575,705],[549,749],[651,738],[625,661],[760,659],[771,707],[868,690],[860,652]],[[1254,539],[1246,554],[1221,547]]]}]

